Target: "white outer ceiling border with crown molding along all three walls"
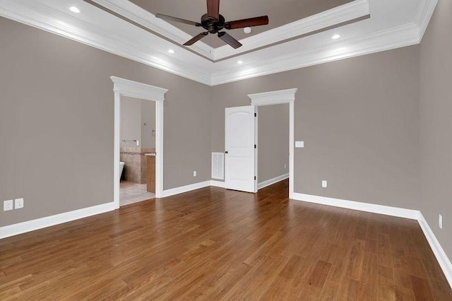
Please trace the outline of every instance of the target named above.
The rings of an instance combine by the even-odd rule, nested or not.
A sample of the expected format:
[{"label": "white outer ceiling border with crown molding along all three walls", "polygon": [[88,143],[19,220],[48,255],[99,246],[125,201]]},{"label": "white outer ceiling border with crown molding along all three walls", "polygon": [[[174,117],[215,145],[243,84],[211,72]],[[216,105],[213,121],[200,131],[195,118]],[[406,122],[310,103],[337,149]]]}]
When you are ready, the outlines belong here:
[{"label": "white outer ceiling border with crown molding along all three walls", "polygon": [[[68,37],[71,40],[199,83],[220,85],[246,78],[323,64],[328,61],[419,44],[429,19],[432,17],[437,0],[422,2],[423,4],[419,6],[418,16],[414,18],[415,23],[399,25],[376,33],[363,34],[340,42],[328,42],[328,44],[320,46],[309,47],[313,44],[304,42],[306,39],[291,40],[280,45],[259,49],[250,54],[242,54],[246,59],[245,61],[251,61],[249,64],[243,65],[235,64],[234,59],[213,63],[184,50],[182,47],[179,49],[180,55],[178,58],[169,56],[164,53],[166,49],[165,51],[158,51],[158,49],[164,49],[165,45],[170,45],[170,42],[132,26],[124,20],[105,13],[106,18],[117,20],[116,25],[124,24],[126,27],[124,30],[121,28],[121,30],[115,32],[109,28],[88,23],[69,13],[58,11],[56,8],[47,5],[52,3],[49,1],[0,0],[0,16]],[[315,38],[310,36],[307,39],[311,41]],[[145,40],[145,42],[141,40]]]}]

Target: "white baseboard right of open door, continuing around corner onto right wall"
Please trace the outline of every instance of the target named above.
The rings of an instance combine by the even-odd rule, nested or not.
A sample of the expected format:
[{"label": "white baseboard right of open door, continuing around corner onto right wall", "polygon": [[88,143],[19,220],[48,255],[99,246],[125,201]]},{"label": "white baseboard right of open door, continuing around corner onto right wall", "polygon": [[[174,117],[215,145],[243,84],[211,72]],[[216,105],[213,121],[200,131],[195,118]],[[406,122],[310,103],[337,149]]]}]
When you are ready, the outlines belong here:
[{"label": "white baseboard right of open door, continuing around corner onto right wall", "polygon": [[427,223],[427,220],[425,220],[424,216],[422,216],[422,213],[420,211],[412,210],[412,209],[391,207],[391,206],[377,205],[374,203],[362,203],[362,202],[358,202],[358,201],[333,199],[333,198],[328,198],[326,196],[313,196],[311,194],[299,194],[297,192],[294,193],[294,196],[292,197],[292,199],[295,201],[306,201],[309,203],[319,203],[319,204],[327,205],[327,206],[347,208],[347,209],[352,209],[352,210],[357,210],[357,211],[365,211],[365,212],[369,212],[369,213],[384,214],[386,216],[396,216],[399,218],[409,218],[411,220],[417,220],[417,222],[419,223],[419,225],[422,229],[422,232],[424,232],[424,235],[427,238],[427,242],[429,242],[429,245],[432,248],[432,251],[436,257],[436,260],[439,263],[439,266],[441,266],[441,269],[443,270],[444,276],[446,276],[446,279],[452,288],[452,264],[451,264],[451,261],[448,259],[446,252],[444,252],[444,249],[441,247],[441,244],[439,244],[439,241],[436,239],[434,232],[432,231],[429,224]]}]

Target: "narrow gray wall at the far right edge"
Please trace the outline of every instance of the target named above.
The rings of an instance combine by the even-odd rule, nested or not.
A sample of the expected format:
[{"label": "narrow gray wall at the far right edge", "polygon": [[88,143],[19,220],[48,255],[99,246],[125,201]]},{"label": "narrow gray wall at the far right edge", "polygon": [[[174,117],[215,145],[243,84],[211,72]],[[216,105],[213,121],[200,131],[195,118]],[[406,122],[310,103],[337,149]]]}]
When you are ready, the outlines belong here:
[{"label": "narrow gray wall at the far right edge", "polygon": [[[452,1],[440,0],[420,47],[422,214],[452,259]],[[442,214],[443,229],[438,216]]]}]

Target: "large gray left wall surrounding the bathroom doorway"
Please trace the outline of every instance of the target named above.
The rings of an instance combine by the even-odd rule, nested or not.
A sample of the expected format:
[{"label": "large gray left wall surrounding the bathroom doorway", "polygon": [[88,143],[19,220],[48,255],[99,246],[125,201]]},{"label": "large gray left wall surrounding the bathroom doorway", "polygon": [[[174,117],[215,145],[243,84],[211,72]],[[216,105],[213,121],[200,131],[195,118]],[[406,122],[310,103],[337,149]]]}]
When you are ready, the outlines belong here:
[{"label": "large gray left wall surrounding the bathroom doorway", "polygon": [[0,201],[25,198],[0,226],[113,201],[109,76],[169,89],[165,189],[210,179],[208,86],[6,18],[0,36]]}]

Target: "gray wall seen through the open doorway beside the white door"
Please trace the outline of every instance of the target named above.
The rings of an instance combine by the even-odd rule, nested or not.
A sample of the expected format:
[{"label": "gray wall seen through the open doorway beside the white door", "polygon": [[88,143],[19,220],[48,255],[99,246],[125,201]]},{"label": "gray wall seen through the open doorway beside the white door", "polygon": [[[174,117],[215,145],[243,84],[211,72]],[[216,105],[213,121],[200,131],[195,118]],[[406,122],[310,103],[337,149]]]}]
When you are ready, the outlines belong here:
[{"label": "gray wall seen through the open doorway beside the white door", "polygon": [[258,107],[258,183],[289,173],[289,105]]}]

